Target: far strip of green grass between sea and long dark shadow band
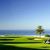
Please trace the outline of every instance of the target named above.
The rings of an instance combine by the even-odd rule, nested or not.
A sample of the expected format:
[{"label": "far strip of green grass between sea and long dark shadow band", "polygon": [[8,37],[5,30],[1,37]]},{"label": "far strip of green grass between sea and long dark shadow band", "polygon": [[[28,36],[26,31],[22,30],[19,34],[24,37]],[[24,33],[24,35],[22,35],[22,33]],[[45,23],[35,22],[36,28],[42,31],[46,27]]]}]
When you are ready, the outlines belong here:
[{"label": "far strip of green grass between sea and long dark shadow band", "polygon": [[16,37],[16,38],[13,38],[13,37],[0,37],[0,42],[1,41],[11,41],[11,42],[42,42],[43,39],[41,40],[34,40],[35,37]]}]

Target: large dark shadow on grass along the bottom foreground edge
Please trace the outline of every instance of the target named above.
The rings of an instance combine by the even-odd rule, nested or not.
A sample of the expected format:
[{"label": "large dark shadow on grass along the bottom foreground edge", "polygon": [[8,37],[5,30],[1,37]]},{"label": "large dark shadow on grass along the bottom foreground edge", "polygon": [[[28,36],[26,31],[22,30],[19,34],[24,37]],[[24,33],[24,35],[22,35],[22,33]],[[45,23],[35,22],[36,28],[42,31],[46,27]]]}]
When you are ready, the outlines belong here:
[{"label": "large dark shadow on grass along the bottom foreground edge", "polygon": [[47,50],[47,49],[32,49],[32,48],[22,48],[22,47],[8,46],[8,45],[0,45],[0,50]]}]

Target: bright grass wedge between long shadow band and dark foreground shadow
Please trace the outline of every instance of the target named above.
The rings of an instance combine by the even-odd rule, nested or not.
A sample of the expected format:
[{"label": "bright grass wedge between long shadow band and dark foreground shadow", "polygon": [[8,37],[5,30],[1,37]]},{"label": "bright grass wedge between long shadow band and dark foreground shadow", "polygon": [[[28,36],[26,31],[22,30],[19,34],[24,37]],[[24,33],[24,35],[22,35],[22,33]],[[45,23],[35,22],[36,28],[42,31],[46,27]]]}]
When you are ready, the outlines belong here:
[{"label": "bright grass wedge between long shadow band and dark foreground shadow", "polygon": [[32,49],[50,49],[50,44],[32,43],[32,44],[5,44],[15,47],[32,48]]}]

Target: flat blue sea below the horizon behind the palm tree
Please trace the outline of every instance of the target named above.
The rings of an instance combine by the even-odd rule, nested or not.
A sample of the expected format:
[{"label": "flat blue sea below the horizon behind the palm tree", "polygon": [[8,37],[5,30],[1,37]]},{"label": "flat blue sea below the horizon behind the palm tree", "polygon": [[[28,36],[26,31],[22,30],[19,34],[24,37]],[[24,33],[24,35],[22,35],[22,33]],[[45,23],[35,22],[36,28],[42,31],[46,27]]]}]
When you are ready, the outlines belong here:
[{"label": "flat blue sea below the horizon behind the palm tree", "polygon": [[[0,30],[0,35],[16,34],[16,35],[36,35],[35,30]],[[49,30],[45,30],[44,34],[50,34]]]}]

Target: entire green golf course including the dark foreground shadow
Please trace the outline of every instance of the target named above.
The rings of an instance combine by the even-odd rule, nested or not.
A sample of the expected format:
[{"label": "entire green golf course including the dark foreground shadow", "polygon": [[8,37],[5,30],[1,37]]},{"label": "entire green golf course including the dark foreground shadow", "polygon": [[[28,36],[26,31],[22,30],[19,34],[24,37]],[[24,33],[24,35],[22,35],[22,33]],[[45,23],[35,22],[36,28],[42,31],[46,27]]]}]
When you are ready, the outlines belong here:
[{"label": "entire green golf course including the dark foreground shadow", "polygon": [[44,43],[46,37],[17,36],[0,37],[0,49],[3,50],[50,50],[50,44]]}]

